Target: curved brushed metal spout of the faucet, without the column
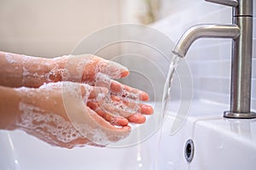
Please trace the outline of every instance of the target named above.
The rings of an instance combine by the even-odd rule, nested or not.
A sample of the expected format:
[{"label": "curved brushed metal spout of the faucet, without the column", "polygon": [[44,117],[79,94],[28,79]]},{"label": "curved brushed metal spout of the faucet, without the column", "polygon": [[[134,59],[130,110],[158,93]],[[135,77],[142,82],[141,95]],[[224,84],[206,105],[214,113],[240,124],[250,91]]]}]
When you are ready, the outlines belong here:
[{"label": "curved brushed metal spout of the faucet, without the column", "polygon": [[172,53],[177,54],[181,58],[185,57],[191,44],[201,37],[235,39],[239,35],[240,28],[236,25],[204,24],[192,26],[188,31],[183,33],[182,37],[180,37],[176,46],[173,48]]}]

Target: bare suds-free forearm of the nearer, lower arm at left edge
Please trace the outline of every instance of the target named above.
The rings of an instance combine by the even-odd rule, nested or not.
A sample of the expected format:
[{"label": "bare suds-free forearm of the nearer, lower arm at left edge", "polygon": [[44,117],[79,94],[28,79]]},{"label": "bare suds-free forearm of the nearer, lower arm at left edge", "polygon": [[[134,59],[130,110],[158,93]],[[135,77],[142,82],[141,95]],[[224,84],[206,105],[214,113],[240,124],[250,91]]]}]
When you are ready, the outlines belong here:
[{"label": "bare suds-free forearm of the nearer, lower arm at left edge", "polygon": [[20,95],[14,88],[0,86],[0,129],[15,129],[20,116]]}]

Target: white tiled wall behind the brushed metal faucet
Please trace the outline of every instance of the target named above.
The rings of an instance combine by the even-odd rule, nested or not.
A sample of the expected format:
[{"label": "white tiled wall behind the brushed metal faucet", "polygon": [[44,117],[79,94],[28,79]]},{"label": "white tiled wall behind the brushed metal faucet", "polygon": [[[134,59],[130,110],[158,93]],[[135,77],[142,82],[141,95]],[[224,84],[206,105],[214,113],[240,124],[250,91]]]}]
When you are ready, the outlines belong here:
[{"label": "white tiled wall behind the brushed metal faucet", "polygon": [[[253,2],[252,107],[256,109],[256,3]],[[230,24],[232,9],[204,0],[162,1],[162,20],[152,26],[174,42],[190,26],[202,23]],[[230,103],[231,40],[200,39],[187,54],[194,82],[194,98]],[[178,88],[178,86],[174,87]]]}]

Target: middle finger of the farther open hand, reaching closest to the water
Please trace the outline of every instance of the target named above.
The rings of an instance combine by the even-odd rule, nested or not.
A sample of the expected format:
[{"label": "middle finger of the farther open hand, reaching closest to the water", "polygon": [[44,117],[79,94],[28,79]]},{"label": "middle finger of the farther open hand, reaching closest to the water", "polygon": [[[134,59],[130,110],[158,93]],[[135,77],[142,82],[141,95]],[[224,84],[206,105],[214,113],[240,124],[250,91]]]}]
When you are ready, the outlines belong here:
[{"label": "middle finger of the farther open hand, reaching closest to the water", "polygon": [[[114,95],[111,96],[111,99],[113,99],[113,101],[122,103],[123,105],[126,105],[127,107],[132,106],[132,107],[130,107],[130,110],[131,110],[132,108],[135,108],[134,105],[137,105],[137,107],[139,107],[139,109],[137,109],[137,113],[140,113],[140,114],[152,115],[153,112],[154,112],[153,108],[152,108],[150,105],[132,103],[131,101],[122,100],[122,99],[120,99],[118,96],[114,96]],[[136,107],[136,108],[137,108],[137,107]]]}]

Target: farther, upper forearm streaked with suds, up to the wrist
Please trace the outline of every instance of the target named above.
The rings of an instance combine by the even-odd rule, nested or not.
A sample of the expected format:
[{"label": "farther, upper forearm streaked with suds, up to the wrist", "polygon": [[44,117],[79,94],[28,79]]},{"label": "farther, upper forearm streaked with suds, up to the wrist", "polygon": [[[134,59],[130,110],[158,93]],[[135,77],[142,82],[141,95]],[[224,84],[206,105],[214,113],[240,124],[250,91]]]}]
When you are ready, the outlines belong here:
[{"label": "farther, upper forearm streaked with suds, up to the wrist", "polygon": [[38,88],[44,82],[55,82],[49,80],[56,79],[49,75],[54,67],[52,59],[0,52],[0,85]]}]

